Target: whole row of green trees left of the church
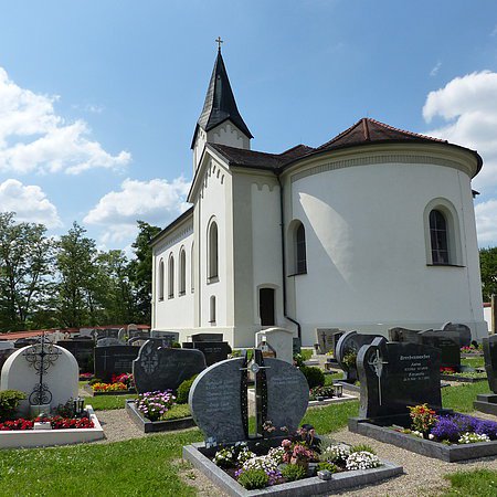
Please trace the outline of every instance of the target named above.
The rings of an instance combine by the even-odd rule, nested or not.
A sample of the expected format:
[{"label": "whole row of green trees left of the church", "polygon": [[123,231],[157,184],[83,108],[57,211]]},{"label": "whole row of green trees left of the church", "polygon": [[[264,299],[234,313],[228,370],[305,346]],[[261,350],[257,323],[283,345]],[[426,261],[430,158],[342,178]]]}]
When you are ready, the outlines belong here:
[{"label": "whole row of green trees left of the church", "polygon": [[129,260],[97,250],[76,222],[54,239],[43,224],[0,213],[0,331],[150,324],[149,241],[159,231],[138,221]]}]

